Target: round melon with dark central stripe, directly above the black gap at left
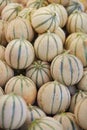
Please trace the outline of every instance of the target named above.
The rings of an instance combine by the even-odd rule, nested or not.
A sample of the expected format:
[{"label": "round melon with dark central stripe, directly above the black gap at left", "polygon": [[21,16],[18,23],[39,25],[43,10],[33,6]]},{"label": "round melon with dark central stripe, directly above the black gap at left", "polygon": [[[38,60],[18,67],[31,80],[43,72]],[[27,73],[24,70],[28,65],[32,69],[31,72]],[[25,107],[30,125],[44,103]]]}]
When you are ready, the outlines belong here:
[{"label": "round melon with dark central stripe, directly above the black gap at left", "polygon": [[14,69],[25,69],[34,61],[34,48],[24,38],[9,42],[5,50],[5,60]]}]

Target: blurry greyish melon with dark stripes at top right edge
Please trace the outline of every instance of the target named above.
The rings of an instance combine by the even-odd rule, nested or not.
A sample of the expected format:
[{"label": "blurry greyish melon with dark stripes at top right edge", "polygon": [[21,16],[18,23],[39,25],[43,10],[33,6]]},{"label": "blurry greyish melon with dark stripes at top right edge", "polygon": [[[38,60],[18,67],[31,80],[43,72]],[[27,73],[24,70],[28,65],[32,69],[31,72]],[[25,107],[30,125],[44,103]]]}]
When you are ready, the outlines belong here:
[{"label": "blurry greyish melon with dark stripes at top right edge", "polygon": [[68,15],[72,14],[74,11],[84,11],[84,5],[81,2],[70,1],[69,5],[66,7]]}]

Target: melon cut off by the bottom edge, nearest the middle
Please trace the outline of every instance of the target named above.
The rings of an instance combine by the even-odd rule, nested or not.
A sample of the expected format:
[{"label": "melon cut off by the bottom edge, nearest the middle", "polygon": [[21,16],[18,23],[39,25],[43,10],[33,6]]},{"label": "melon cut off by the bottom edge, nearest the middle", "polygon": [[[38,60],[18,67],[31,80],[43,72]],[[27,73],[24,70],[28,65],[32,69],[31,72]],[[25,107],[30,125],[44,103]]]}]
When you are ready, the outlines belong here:
[{"label": "melon cut off by the bottom edge, nearest the middle", "polygon": [[63,126],[52,117],[43,117],[34,120],[28,127],[28,130],[63,130]]}]

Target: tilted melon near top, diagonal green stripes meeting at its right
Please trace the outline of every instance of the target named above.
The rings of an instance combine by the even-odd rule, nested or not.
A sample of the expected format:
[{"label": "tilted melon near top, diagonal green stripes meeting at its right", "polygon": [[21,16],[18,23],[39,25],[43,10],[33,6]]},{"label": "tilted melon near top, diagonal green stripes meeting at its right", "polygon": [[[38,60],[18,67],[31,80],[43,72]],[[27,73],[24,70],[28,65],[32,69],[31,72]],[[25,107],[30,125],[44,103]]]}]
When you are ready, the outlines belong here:
[{"label": "tilted melon near top, diagonal green stripes meeting at its right", "polygon": [[37,33],[49,30],[53,32],[60,24],[60,18],[55,10],[41,7],[31,14],[31,24]]}]

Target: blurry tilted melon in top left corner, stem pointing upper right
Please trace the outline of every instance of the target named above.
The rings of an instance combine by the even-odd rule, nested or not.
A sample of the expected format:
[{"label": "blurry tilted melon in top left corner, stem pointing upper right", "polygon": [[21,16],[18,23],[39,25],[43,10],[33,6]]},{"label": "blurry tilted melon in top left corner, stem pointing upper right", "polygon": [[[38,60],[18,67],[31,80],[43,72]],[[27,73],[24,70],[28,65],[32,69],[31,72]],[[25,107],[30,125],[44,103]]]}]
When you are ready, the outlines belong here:
[{"label": "blurry tilted melon in top left corner, stem pointing upper right", "polygon": [[1,13],[1,18],[4,21],[11,21],[18,16],[18,13],[23,9],[23,6],[18,3],[8,4]]}]

